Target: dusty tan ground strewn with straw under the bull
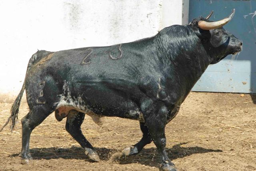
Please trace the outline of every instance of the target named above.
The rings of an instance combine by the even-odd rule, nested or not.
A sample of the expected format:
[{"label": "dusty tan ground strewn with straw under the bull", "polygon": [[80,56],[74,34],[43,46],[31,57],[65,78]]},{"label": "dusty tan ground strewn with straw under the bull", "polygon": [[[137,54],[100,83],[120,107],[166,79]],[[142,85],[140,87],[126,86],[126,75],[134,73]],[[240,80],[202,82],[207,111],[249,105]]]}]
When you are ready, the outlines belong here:
[{"label": "dusty tan ground strewn with straw under the bull", "polygon": [[[167,151],[181,171],[256,170],[255,97],[229,93],[192,92],[178,115],[166,126]],[[0,103],[0,125],[11,104]],[[20,107],[19,118],[28,112]],[[65,120],[65,119],[64,119]],[[33,161],[20,164],[21,124],[15,132],[0,133],[0,170],[158,170],[159,155],[153,143],[139,155],[109,162],[111,154],[140,140],[138,121],[104,118],[100,128],[86,116],[82,131],[102,161],[90,161],[65,131],[65,121],[50,115],[34,129],[30,139]]]}]

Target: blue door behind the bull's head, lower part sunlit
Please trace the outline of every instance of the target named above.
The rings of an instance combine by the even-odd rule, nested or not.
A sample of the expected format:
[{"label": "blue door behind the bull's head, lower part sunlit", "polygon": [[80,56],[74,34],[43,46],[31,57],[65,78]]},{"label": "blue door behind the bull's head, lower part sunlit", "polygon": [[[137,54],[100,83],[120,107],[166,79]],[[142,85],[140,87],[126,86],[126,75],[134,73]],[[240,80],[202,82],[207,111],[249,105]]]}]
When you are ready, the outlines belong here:
[{"label": "blue door behind the bull's head, lower part sunlit", "polygon": [[243,41],[243,51],[209,66],[192,91],[256,93],[256,0],[190,0],[189,21],[212,10],[210,20],[221,20],[233,8],[236,13],[224,28]]}]

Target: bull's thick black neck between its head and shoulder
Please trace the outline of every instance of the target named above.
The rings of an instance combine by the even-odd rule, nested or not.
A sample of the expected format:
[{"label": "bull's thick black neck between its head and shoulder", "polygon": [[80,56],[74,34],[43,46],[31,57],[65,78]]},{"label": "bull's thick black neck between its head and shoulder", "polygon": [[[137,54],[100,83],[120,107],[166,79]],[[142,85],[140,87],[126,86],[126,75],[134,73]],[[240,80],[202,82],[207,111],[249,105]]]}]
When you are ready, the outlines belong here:
[{"label": "bull's thick black neck between its head and shoulder", "polygon": [[173,84],[178,85],[173,86],[180,87],[186,96],[210,64],[211,58],[194,32],[185,26],[177,27],[184,29],[184,32],[168,35],[168,40],[166,35],[159,39],[164,47],[159,53],[167,78],[175,79]]}]

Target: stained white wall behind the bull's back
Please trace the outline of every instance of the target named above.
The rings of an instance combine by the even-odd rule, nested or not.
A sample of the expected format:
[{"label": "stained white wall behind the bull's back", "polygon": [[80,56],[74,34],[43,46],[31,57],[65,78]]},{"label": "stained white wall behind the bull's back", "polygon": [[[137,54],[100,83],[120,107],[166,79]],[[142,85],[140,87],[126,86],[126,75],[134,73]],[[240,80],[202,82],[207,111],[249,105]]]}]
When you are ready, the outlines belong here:
[{"label": "stained white wall behind the bull's back", "polygon": [[188,22],[188,0],[0,0],[0,4],[2,102],[12,101],[20,91],[28,60],[37,49],[108,46]]}]

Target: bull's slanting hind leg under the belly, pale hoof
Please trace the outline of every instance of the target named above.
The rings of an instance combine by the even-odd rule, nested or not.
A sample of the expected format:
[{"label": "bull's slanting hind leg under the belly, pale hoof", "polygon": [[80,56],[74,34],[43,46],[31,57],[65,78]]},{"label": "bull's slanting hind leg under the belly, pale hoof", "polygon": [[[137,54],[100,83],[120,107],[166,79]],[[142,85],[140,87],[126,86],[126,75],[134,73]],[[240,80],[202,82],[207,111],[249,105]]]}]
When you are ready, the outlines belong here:
[{"label": "bull's slanting hind leg under the belly, pale hoof", "polygon": [[71,110],[67,116],[66,130],[84,148],[85,154],[88,155],[90,159],[100,161],[98,154],[81,131],[84,115],[84,113]]}]

